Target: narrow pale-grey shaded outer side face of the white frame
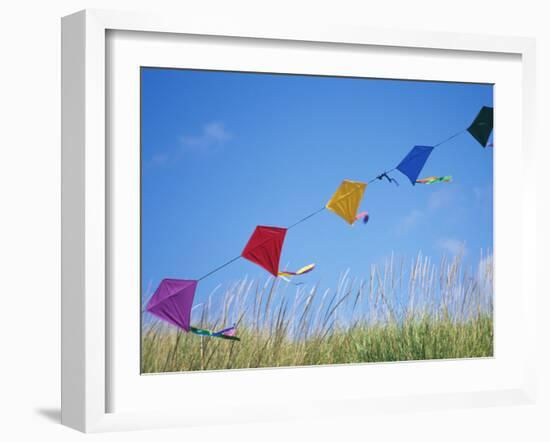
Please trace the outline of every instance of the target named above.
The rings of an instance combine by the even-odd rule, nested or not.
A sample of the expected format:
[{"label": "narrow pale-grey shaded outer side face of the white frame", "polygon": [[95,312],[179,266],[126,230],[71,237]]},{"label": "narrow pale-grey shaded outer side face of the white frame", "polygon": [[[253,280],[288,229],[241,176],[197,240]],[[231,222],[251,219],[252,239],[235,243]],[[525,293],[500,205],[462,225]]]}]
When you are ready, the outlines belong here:
[{"label": "narrow pale-grey shaded outer side face of the white frame", "polygon": [[84,431],[85,13],[61,21],[61,423]]}]

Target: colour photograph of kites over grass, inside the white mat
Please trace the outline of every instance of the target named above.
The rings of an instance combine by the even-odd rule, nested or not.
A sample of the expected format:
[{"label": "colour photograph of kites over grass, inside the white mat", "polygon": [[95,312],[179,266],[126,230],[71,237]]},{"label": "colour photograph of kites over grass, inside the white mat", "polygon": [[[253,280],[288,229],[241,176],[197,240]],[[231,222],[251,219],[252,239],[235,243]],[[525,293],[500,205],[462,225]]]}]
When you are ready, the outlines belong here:
[{"label": "colour photograph of kites over grass, inside the white mat", "polygon": [[142,66],[141,374],[493,357],[493,93]]}]

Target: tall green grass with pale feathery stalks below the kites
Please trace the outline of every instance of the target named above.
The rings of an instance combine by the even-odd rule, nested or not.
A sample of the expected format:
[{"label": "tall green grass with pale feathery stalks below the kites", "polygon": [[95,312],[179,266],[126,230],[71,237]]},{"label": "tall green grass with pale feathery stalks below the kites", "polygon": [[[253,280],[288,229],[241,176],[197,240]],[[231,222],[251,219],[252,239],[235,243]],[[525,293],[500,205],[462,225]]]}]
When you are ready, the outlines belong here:
[{"label": "tall green grass with pale feathery stalks below the kites", "polygon": [[194,308],[193,324],[236,323],[240,342],[201,338],[144,312],[143,373],[485,357],[493,354],[493,262],[418,255],[344,272],[334,290],[244,278]]}]

